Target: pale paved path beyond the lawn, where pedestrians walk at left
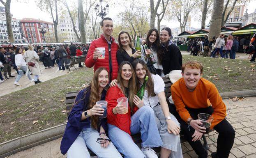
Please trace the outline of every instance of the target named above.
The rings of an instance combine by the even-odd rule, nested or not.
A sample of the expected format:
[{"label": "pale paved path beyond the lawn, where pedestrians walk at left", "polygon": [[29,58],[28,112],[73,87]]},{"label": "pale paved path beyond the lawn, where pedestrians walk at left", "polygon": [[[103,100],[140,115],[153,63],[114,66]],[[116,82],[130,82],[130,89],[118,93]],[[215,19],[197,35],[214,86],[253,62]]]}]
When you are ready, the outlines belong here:
[{"label": "pale paved path beyond the lawn, where pedestrians walk at left", "polygon": [[[75,71],[74,67],[72,67],[70,71],[68,69],[66,69],[65,71],[62,71],[62,70],[59,70],[59,67],[56,65],[54,67],[51,67],[50,69],[44,69],[43,63],[39,62],[39,64],[40,64],[40,68],[42,71],[42,74],[39,76],[39,79],[42,82],[45,82],[52,78],[56,78],[58,76],[65,75],[68,72]],[[76,64],[75,66],[76,66],[76,69],[79,69],[78,64]],[[3,73],[2,73],[2,75],[3,75]],[[17,76],[16,70],[14,70],[13,68],[12,68],[12,76]],[[35,82],[30,82],[28,77],[23,75],[22,78],[19,80],[19,83],[21,86],[16,86],[16,85],[14,85],[15,78],[16,77],[10,78],[9,80],[5,80],[5,82],[2,82],[0,84],[0,89],[4,89],[4,90],[1,90],[0,96],[24,89],[24,88],[32,86],[32,85],[35,85]],[[32,78],[33,78],[33,76],[32,76]]]}]

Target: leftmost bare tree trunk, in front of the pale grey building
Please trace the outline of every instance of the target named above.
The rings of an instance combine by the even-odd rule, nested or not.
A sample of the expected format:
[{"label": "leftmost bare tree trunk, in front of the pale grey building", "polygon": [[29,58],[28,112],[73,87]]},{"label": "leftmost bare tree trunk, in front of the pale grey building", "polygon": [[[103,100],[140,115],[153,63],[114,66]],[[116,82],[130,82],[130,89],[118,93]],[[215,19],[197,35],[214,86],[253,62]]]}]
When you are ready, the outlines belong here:
[{"label": "leftmost bare tree trunk, in front of the pale grey building", "polygon": [[6,26],[7,26],[9,42],[14,43],[14,37],[13,37],[13,31],[12,31],[11,0],[6,0],[6,2],[0,0],[0,2],[5,6]]}]

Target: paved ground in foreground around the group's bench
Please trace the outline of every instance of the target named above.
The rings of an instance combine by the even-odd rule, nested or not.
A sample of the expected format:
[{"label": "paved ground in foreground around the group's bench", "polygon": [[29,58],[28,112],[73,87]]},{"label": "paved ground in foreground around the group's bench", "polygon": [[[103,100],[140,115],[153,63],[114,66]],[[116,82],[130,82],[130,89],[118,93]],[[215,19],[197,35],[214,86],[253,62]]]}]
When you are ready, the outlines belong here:
[{"label": "paved ground in foreground around the group's bench", "polygon": [[[244,101],[224,100],[227,119],[235,129],[235,143],[229,158],[256,158],[256,97]],[[206,136],[209,144],[208,155],[216,151],[218,134],[213,131]],[[66,158],[60,153],[61,138],[37,147],[18,152],[8,158]],[[197,158],[188,143],[182,144],[184,158]],[[113,156],[114,158],[114,156]]]}]

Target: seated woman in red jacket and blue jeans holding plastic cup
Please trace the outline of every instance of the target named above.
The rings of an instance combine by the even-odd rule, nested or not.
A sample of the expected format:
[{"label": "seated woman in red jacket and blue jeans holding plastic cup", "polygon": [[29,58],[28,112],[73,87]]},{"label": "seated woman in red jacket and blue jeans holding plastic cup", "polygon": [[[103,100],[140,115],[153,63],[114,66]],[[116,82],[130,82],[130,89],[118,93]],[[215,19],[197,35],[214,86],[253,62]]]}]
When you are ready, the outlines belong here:
[{"label": "seated woman in red jacket and blue jeans holding plastic cup", "polygon": [[[155,114],[150,106],[143,106],[143,101],[135,95],[136,92],[136,75],[131,63],[124,61],[119,65],[117,86],[110,87],[106,94],[108,136],[125,158],[157,158],[151,147],[160,147],[163,142]],[[128,109],[124,105],[118,105],[117,99],[120,97],[128,98]],[[131,138],[131,135],[139,132],[141,150]]]}]

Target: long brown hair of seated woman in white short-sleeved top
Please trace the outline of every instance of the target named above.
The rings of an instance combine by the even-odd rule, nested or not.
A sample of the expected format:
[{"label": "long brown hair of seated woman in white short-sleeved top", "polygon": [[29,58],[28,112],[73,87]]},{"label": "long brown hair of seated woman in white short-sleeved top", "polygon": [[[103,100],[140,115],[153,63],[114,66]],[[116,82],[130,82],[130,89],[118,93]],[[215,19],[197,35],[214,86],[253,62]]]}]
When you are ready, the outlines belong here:
[{"label": "long brown hair of seated woman in white short-sleeved top", "polygon": [[[141,60],[141,59],[134,60],[132,62],[132,67],[133,67],[134,71],[136,71],[136,66],[138,64],[141,64],[146,70],[146,75],[144,76],[144,79],[146,78],[146,76],[148,76],[148,82],[147,82],[146,87],[145,87],[145,89],[148,91],[148,97],[149,96],[156,96],[155,91],[154,91],[154,83],[153,83],[153,80],[151,78],[151,73],[148,70],[147,64],[145,62],[143,62],[143,60]],[[137,85],[137,87],[141,87],[138,80],[136,80],[136,85]]]}]

